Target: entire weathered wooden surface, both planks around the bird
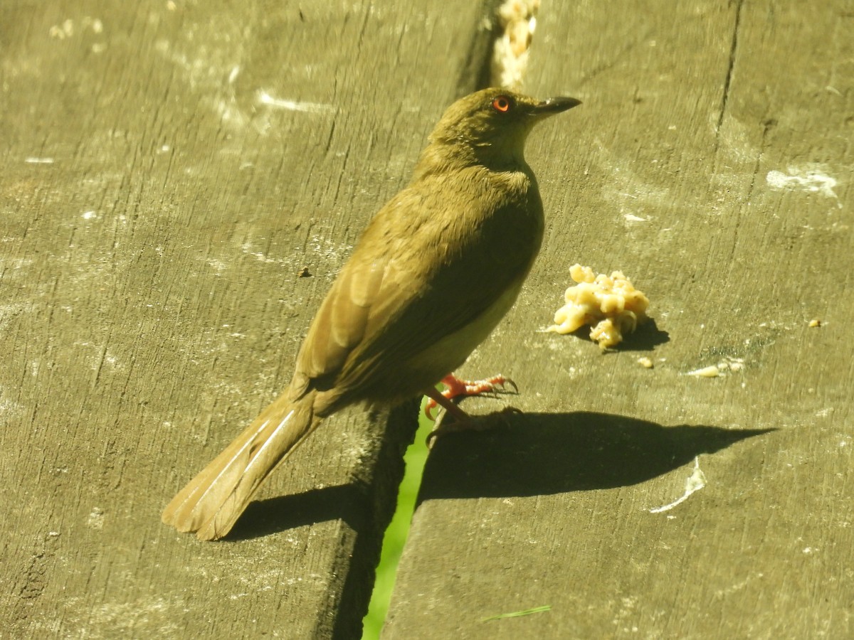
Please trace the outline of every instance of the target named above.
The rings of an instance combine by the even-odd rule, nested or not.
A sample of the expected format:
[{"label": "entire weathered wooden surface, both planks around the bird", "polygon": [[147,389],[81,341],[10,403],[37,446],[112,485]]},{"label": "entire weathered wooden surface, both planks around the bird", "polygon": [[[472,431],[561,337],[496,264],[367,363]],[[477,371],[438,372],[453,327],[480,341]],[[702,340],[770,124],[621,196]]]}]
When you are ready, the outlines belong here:
[{"label": "entire weathered wooden surface, both planks around the bird", "polygon": [[[0,635],[357,632],[408,416],[330,420],[230,541],[160,510],[284,386],[366,219],[474,88],[483,10],[5,10]],[[512,375],[526,413],[436,445],[387,637],[851,635],[852,23],[844,2],[546,3],[529,90],[585,104],[530,141],[547,247],[466,367]],[[632,276],[669,340],[537,333],[576,261]],[[684,375],[726,358],[744,368]],[[705,488],[650,513],[697,456]]]}]

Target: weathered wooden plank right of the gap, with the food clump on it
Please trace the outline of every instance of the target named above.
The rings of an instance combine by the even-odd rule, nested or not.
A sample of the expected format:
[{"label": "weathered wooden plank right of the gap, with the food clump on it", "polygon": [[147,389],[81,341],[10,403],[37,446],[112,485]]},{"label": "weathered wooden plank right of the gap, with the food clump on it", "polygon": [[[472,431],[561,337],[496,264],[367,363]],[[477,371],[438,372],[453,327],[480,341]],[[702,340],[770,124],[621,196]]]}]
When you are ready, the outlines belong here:
[{"label": "weathered wooden plank right of the gap, with the food clump on it", "polygon": [[[463,372],[525,413],[432,451],[383,637],[854,635],[852,32],[845,2],[544,3],[529,92],[584,104],[532,136],[547,246]],[[537,333],[576,261],[669,340]]]}]

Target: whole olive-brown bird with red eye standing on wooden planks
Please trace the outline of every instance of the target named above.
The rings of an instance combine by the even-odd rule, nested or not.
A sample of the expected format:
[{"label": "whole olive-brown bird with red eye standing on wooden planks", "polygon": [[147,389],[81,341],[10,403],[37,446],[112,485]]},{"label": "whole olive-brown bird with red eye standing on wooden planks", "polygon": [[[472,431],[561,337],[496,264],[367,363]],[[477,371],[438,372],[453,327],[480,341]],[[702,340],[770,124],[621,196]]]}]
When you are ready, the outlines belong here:
[{"label": "whole olive-brown bird with red eye standing on wooden planks", "polygon": [[272,470],[348,405],[426,394],[471,420],[436,384],[515,302],[545,226],[525,140],[579,104],[489,88],[447,108],[412,180],[371,219],[336,276],[288,386],[178,492],[165,524],[222,538]]}]

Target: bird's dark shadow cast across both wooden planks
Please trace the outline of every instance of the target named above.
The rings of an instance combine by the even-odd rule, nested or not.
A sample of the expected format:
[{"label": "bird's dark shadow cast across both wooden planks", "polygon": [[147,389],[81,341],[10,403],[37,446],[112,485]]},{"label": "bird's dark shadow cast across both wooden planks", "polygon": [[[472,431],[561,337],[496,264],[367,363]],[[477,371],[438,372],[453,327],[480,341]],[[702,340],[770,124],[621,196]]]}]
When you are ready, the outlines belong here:
[{"label": "bird's dark shadow cast across both wooden planks", "polygon": [[[436,498],[527,497],[636,485],[775,429],[664,427],[627,416],[502,414],[494,428],[448,433],[430,452],[418,502]],[[371,510],[360,483],[256,501],[227,540],[258,538],[333,519],[360,529]]]}]

